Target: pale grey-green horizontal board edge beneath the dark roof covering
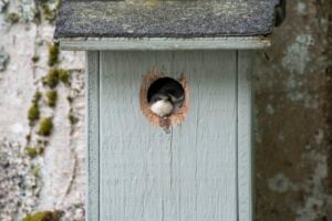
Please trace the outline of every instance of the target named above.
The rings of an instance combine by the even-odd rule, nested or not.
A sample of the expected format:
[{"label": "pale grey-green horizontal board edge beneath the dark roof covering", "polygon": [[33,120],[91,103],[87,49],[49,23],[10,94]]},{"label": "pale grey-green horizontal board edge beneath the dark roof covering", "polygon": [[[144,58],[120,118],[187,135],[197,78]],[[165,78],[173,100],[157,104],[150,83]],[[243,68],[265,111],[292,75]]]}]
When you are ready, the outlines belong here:
[{"label": "pale grey-green horizontal board edge beneath the dark roof covering", "polygon": [[242,50],[264,49],[271,45],[270,38],[225,36],[225,38],[63,38],[62,50]]}]

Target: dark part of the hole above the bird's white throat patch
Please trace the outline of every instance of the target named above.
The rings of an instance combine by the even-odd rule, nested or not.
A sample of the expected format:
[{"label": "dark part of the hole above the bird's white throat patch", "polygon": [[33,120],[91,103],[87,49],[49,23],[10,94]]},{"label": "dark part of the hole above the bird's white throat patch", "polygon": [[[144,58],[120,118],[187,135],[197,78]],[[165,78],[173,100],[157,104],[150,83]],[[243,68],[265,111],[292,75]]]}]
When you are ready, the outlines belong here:
[{"label": "dark part of the hole above the bird's white throat patch", "polygon": [[151,105],[162,98],[170,101],[178,110],[185,102],[185,90],[178,81],[172,77],[158,78],[149,86],[147,101]]}]

